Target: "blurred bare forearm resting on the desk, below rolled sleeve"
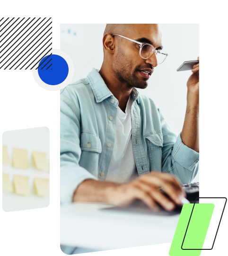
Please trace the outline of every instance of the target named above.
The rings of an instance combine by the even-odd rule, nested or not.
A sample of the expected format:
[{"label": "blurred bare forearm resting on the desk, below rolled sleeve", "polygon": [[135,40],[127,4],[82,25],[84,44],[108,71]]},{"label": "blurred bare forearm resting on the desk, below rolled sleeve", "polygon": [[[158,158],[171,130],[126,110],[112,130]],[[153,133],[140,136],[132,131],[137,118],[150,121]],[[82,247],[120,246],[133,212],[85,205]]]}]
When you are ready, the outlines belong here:
[{"label": "blurred bare forearm resting on the desk, below rolled sleeve", "polygon": [[111,203],[110,194],[117,185],[114,182],[84,180],[75,190],[72,201]]}]

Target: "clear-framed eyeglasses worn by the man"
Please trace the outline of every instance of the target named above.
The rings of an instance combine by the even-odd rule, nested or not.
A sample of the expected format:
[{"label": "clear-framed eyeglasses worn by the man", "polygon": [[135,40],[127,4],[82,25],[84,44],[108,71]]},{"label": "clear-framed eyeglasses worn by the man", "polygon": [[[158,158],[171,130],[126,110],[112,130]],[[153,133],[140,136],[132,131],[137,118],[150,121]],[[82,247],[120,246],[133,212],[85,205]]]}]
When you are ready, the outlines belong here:
[{"label": "clear-framed eyeglasses worn by the man", "polygon": [[121,36],[123,38],[126,38],[128,40],[131,40],[132,42],[135,42],[137,44],[140,44],[140,57],[145,59],[145,60],[149,59],[149,57],[155,52],[157,60],[158,60],[158,64],[161,64],[162,62],[165,61],[165,59],[168,56],[168,54],[164,50],[155,50],[154,46],[151,45],[151,44],[140,43],[138,41],[127,38],[123,35],[119,35],[119,36]]}]

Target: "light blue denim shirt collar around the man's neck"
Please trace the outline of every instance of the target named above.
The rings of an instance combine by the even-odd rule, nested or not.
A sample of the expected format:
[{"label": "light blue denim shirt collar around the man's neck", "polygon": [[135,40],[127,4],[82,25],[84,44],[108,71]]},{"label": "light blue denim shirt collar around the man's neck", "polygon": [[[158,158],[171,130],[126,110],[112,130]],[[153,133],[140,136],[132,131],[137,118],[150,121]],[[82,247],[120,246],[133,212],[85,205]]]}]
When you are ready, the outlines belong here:
[{"label": "light blue denim shirt collar around the man's neck", "polygon": [[[114,105],[116,105],[116,107],[118,106],[118,100],[113,96],[113,93],[109,90],[109,88],[107,88],[105,81],[99,74],[99,70],[93,68],[89,72],[87,78],[88,78],[89,84],[92,88],[94,97],[96,99],[96,103],[100,103],[104,99],[111,96],[111,98],[114,98],[116,100],[116,104],[114,104]],[[137,103],[140,104],[139,99],[138,99],[139,92],[134,87],[132,88],[131,96],[132,96],[133,101],[136,100]],[[110,100],[111,100],[111,98],[110,98]]]}]

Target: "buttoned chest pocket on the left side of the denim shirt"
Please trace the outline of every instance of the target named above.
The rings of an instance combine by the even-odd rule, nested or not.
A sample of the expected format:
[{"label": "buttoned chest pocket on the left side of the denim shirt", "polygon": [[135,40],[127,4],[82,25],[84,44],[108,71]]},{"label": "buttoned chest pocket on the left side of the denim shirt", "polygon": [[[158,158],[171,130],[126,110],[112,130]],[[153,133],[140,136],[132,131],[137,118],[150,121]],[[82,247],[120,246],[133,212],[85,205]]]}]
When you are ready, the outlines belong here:
[{"label": "buttoned chest pocket on the left side of the denim shirt", "polygon": [[101,153],[101,140],[95,132],[83,131],[80,135],[80,148],[84,151]]}]

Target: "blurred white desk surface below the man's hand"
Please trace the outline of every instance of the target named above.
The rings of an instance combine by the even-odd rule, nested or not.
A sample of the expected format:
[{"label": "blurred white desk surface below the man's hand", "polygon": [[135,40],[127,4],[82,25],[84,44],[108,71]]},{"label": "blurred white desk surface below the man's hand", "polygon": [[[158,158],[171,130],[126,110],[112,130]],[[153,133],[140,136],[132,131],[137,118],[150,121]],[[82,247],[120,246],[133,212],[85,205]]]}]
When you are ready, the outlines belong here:
[{"label": "blurred white desk surface below the man's hand", "polygon": [[60,243],[101,250],[171,245],[180,214],[159,216],[101,210],[112,206],[103,203],[61,206]]}]

